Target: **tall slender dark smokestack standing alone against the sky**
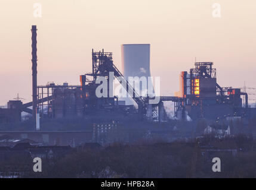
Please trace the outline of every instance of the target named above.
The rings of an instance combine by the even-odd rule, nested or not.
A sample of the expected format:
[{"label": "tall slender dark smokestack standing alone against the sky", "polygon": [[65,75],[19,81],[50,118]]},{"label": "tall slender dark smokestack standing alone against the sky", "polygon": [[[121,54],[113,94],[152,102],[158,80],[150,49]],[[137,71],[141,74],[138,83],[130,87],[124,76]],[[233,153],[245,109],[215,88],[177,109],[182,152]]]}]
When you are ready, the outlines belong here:
[{"label": "tall slender dark smokestack standing alone against the sky", "polygon": [[36,119],[36,106],[37,106],[37,92],[36,92],[36,88],[37,88],[37,73],[38,71],[36,70],[37,67],[37,61],[38,61],[38,56],[36,55],[36,25],[32,25],[32,97],[33,97],[33,119]]}]

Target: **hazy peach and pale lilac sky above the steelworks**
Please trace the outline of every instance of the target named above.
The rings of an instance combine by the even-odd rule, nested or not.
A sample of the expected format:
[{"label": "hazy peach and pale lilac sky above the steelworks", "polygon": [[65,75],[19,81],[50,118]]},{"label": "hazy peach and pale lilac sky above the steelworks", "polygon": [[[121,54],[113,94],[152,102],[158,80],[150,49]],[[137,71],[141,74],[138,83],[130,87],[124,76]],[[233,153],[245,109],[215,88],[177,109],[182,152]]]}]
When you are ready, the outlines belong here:
[{"label": "hazy peach and pale lilac sky above the steelworks", "polygon": [[[33,4],[42,17],[33,17]],[[212,5],[221,17],[212,17]],[[32,100],[31,25],[38,27],[38,85],[79,84],[91,71],[91,49],[113,52],[121,69],[122,43],[151,44],[151,74],[161,92],[178,91],[180,71],[213,61],[221,86],[256,87],[256,1],[233,0],[1,0],[0,105],[20,94]],[[255,96],[256,97],[256,96]],[[249,96],[250,99],[255,99]]]}]

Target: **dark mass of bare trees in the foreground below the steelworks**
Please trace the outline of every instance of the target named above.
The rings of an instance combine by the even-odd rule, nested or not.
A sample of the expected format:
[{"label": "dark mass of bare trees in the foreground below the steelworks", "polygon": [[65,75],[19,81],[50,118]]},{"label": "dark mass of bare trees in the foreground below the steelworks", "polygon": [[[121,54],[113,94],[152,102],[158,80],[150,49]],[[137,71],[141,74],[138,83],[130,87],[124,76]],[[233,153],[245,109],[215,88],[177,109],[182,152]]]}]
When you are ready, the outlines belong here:
[{"label": "dark mass of bare trees in the foreground below the steelworks", "polygon": [[[222,145],[225,144],[225,147]],[[238,150],[203,155],[203,145]],[[230,147],[229,147],[230,145]],[[205,137],[174,143],[115,143],[106,148],[75,149],[54,162],[42,162],[42,172],[28,178],[256,178],[256,141],[240,135],[219,140]],[[220,157],[221,172],[212,172],[212,158]],[[50,164],[51,163],[51,164]]]}]

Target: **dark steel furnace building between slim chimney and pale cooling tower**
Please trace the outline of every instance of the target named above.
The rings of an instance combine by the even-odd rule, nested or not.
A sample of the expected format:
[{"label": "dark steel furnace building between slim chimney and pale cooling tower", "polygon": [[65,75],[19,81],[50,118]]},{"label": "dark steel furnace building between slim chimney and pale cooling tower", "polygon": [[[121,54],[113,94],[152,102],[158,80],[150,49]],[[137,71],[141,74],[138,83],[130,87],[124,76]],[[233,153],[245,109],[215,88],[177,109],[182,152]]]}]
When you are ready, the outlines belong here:
[{"label": "dark steel furnace building between slim chimney and pale cooling tower", "polygon": [[[92,72],[80,75],[80,85],[56,85],[50,83],[38,86],[38,105],[41,117],[72,118],[76,116],[97,115],[100,112],[127,112],[131,106],[119,106],[118,97],[110,96],[109,72],[115,77],[123,77],[113,65],[112,53],[94,52],[92,49]],[[107,97],[97,97],[98,77],[107,80]],[[30,106],[30,105],[27,105]],[[103,115],[98,115],[100,118]]]}]

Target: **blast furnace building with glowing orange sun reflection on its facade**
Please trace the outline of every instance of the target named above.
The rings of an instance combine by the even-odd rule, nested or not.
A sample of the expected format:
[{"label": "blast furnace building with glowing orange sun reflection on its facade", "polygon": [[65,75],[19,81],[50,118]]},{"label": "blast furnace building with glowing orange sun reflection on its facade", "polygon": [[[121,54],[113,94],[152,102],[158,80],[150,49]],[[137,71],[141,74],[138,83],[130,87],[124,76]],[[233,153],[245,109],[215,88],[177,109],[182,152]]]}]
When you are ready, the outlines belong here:
[{"label": "blast furnace building with glowing orange sun reflection on its facade", "polygon": [[[213,62],[196,62],[190,72],[180,74],[180,91],[175,96],[183,98],[177,115],[192,120],[199,118],[220,119],[229,116],[252,117],[255,109],[248,106],[248,94],[240,88],[221,87],[217,83]],[[242,98],[245,96],[245,107]]]}]

